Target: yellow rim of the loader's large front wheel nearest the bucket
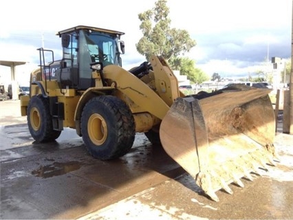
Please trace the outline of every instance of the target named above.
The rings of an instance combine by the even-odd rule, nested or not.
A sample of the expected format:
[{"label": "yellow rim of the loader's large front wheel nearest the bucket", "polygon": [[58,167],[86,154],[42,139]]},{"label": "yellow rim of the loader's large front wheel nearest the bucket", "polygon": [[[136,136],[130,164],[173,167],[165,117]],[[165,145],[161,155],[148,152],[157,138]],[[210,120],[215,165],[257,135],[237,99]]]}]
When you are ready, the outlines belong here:
[{"label": "yellow rim of the loader's large front wheel nearest the bucket", "polygon": [[100,146],[105,142],[108,134],[105,119],[100,114],[91,114],[87,123],[89,138],[96,145]]}]

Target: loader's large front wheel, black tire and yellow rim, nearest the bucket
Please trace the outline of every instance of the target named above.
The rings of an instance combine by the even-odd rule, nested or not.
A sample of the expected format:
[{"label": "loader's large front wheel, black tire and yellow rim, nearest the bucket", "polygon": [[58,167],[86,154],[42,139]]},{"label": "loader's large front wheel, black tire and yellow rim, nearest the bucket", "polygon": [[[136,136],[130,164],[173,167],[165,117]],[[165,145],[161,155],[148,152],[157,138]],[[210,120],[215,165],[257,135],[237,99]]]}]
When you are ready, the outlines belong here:
[{"label": "loader's large front wheel, black tire and yellow rim, nearest the bucket", "polygon": [[116,97],[88,101],[81,115],[81,132],[89,153],[96,159],[122,157],[133,146],[135,123],[128,106]]}]

